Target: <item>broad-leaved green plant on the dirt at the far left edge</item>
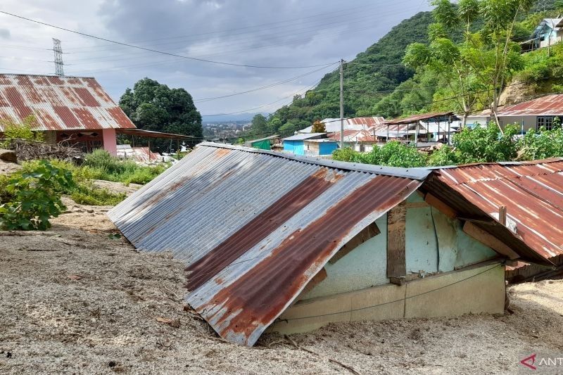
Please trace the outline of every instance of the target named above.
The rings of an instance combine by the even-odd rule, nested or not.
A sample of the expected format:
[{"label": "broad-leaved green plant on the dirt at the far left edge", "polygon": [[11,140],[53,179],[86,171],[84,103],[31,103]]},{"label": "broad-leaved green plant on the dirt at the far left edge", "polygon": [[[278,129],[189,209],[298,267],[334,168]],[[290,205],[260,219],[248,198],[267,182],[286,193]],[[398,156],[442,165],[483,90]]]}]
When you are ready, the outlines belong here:
[{"label": "broad-leaved green plant on the dirt at the far left edge", "polygon": [[0,227],[4,229],[37,229],[51,227],[49,219],[57,217],[65,205],[61,191],[74,185],[72,173],[41,160],[32,172],[15,173],[8,184],[6,203],[0,205]]}]

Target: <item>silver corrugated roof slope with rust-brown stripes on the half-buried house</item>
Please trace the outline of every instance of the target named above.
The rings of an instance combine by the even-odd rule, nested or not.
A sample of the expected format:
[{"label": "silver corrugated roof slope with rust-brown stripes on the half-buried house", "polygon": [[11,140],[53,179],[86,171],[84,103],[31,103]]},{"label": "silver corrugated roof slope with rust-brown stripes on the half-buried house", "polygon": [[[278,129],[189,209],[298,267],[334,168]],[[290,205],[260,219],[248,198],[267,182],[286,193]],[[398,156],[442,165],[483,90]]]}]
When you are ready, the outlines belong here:
[{"label": "silver corrugated roof slope with rust-brown stripes on the half-buried house", "polygon": [[202,144],[108,215],[137,248],[185,262],[187,302],[223,338],[253,345],[428,173]]}]

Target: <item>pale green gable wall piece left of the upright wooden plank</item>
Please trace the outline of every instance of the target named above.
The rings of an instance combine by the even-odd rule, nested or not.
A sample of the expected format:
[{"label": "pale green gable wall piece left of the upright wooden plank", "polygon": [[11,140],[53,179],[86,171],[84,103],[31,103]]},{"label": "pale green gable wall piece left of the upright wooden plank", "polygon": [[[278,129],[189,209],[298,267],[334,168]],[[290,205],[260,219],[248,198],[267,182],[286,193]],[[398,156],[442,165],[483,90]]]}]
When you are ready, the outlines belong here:
[{"label": "pale green gable wall piece left of the upright wooden plank", "polygon": [[387,215],[375,221],[381,233],[365,241],[360,246],[324,269],[327,278],[307,293],[303,299],[322,297],[358,289],[388,284],[387,267]]}]

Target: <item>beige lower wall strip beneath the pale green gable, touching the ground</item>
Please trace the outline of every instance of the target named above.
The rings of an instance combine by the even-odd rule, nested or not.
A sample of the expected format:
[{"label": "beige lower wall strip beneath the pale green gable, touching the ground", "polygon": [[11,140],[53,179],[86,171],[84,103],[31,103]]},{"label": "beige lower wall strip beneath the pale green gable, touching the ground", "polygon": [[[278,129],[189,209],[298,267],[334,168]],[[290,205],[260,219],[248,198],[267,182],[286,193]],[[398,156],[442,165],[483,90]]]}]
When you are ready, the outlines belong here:
[{"label": "beige lower wall strip beneath the pale green gable, touching the ground", "polygon": [[401,317],[445,317],[468,313],[502,314],[505,269],[489,263],[459,271],[348,293],[299,301],[269,331],[312,331],[331,322]]}]

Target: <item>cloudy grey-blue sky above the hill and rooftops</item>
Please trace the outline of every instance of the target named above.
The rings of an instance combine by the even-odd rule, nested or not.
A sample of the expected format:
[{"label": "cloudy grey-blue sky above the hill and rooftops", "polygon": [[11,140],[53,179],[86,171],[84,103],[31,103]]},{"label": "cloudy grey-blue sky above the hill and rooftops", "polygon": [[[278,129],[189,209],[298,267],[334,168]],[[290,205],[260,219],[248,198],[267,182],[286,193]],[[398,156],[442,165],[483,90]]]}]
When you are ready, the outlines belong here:
[{"label": "cloudy grey-blue sky above the hill and rooftops", "polygon": [[[0,72],[54,72],[61,39],[65,75],[96,77],[118,101],[150,77],[184,87],[202,115],[272,112],[314,87],[426,0],[2,0],[0,11],[206,63],[119,46],[0,13]],[[324,65],[324,66],[323,66]],[[302,67],[302,68],[296,68]],[[283,82],[283,83],[280,83]],[[246,94],[237,94],[267,87]],[[213,100],[217,96],[227,96]]]}]

